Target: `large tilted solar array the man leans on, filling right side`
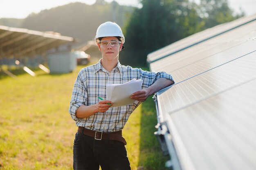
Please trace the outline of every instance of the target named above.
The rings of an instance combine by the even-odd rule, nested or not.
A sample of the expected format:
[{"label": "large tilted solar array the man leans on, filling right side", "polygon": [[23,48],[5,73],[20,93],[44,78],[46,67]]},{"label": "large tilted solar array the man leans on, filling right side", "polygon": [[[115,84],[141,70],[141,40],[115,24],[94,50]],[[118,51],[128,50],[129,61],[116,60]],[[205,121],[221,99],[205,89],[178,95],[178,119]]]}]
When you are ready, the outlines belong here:
[{"label": "large tilted solar array the man leans on, filling right side", "polygon": [[256,169],[256,15],[248,18],[150,63],[175,79],[157,92],[158,120],[184,170]]}]

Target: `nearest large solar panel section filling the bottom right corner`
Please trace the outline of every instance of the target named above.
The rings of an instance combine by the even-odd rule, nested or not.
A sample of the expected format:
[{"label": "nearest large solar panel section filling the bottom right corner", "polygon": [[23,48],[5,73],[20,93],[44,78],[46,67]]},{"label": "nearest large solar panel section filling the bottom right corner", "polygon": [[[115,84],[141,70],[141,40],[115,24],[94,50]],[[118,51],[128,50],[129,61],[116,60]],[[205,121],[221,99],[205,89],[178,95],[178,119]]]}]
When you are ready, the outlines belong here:
[{"label": "nearest large solar panel section filling the bottom right corner", "polygon": [[[175,127],[171,130],[177,130],[171,133],[182,141],[173,137],[177,150],[182,147],[188,154],[178,152],[184,169],[192,169],[185,157],[197,170],[256,168],[255,86],[254,79],[168,115]],[[243,96],[251,101],[244,102]]]}]

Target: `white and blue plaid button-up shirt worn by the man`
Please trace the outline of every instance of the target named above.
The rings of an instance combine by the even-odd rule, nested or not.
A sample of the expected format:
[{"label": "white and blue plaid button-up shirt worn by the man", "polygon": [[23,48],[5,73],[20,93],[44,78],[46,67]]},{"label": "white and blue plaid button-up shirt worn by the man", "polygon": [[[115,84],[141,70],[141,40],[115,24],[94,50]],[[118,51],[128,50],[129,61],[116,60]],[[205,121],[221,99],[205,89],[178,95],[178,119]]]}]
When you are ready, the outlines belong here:
[{"label": "white and blue plaid button-up shirt worn by the man", "polygon": [[[101,60],[100,60],[101,61]],[[106,112],[97,112],[86,118],[77,118],[76,110],[81,105],[93,105],[99,102],[99,97],[106,99],[107,83],[126,83],[133,78],[142,79],[142,89],[152,85],[158,78],[167,78],[173,81],[170,74],[165,72],[147,72],[130,66],[117,66],[108,72],[101,62],[80,70],[72,92],[69,112],[77,126],[102,132],[122,130],[130,114],[141,103],[135,101],[132,105],[111,107]],[[173,81],[174,82],[174,81]]]}]

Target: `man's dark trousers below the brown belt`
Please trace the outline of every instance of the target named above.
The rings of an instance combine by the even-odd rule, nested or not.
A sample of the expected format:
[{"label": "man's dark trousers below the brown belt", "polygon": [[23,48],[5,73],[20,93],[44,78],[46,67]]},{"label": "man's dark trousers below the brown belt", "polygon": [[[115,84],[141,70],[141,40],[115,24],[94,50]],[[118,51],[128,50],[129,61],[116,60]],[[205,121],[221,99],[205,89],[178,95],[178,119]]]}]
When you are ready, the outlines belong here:
[{"label": "man's dark trousers below the brown belt", "polygon": [[73,147],[74,170],[130,170],[124,143],[114,140],[96,140],[76,132]]}]

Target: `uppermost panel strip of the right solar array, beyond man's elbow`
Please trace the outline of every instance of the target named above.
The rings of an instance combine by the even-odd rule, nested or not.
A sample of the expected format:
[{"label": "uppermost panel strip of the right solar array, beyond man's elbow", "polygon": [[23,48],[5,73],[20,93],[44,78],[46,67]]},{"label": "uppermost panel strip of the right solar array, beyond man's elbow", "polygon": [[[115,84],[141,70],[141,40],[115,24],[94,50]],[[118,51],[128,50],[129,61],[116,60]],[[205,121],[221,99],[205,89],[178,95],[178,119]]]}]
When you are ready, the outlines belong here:
[{"label": "uppermost panel strip of the right solar array, beyond man's elbow", "polygon": [[[240,44],[247,42],[248,39],[252,40],[255,37],[256,22],[251,22],[247,25],[247,27],[238,27],[237,29],[222,34],[221,37],[212,38],[205,41],[204,43],[200,43],[176,54],[170,55],[169,57],[151,63],[150,69],[154,72],[168,72],[171,73],[174,78],[177,78],[178,76],[175,76],[173,71],[185,67],[188,65],[188,63],[193,63],[203,58],[213,56],[214,54],[218,56],[220,52],[223,52],[232,47],[236,49]],[[234,52],[234,49],[229,51]]]}]

